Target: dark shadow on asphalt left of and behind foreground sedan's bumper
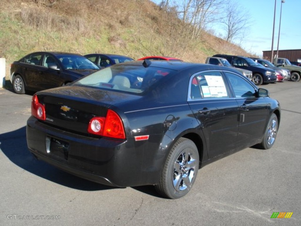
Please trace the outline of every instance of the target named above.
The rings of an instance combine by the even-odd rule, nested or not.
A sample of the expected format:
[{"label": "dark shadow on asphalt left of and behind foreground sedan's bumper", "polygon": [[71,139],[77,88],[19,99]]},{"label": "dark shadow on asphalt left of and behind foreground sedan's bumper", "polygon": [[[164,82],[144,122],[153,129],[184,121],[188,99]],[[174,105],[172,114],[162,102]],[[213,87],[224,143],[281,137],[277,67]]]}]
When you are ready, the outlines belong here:
[{"label": "dark shadow on asphalt left of and behind foreground sedan's bumper", "polygon": [[115,188],[76,177],[46,162],[37,160],[27,149],[25,126],[18,130],[0,134],[0,149],[11,162],[20,168],[54,183],[85,191]]}]

